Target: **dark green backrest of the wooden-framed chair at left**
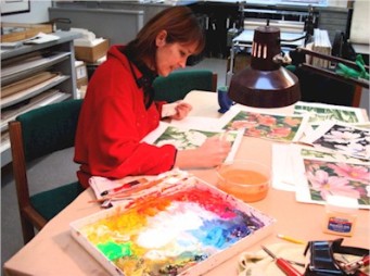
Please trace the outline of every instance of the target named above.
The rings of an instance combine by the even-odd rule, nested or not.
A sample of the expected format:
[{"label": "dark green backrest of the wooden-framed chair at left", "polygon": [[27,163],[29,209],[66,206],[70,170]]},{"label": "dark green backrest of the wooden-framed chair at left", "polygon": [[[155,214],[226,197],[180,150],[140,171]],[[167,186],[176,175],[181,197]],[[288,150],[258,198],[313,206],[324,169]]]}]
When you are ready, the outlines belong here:
[{"label": "dark green backrest of the wooden-framed chair at left", "polygon": [[25,161],[74,146],[82,100],[67,100],[16,117],[22,127]]}]

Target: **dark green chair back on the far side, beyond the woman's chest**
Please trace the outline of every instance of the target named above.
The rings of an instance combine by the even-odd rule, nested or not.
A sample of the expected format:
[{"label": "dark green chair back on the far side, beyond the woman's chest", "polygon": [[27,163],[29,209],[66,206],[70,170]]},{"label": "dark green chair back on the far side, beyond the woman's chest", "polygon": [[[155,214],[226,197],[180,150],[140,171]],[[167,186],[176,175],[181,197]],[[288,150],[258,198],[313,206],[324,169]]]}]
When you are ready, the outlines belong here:
[{"label": "dark green chair back on the far side, beyond the woman's chest", "polygon": [[157,77],[153,88],[154,100],[175,102],[182,100],[191,90],[216,92],[217,74],[207,70],[176,71],[167,77]]}]

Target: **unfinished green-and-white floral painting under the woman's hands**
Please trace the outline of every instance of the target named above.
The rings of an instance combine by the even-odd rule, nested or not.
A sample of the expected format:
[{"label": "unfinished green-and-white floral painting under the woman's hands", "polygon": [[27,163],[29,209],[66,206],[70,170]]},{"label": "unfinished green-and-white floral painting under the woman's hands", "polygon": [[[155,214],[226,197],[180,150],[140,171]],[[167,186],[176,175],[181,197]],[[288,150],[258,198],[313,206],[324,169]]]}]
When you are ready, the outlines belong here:
[{"label": "unfinished green-and-white floral painting under the woman's hands", "polygon": [[173,145],[178,150],[195,149],[204,143],[207,138],[219,136],[231,142],[231,151],[225,162],[232,161],[243,137],[242,130],[199,130],[186,129],[161,122],[160,126],[149,134],[143,140],[156,145]]}]

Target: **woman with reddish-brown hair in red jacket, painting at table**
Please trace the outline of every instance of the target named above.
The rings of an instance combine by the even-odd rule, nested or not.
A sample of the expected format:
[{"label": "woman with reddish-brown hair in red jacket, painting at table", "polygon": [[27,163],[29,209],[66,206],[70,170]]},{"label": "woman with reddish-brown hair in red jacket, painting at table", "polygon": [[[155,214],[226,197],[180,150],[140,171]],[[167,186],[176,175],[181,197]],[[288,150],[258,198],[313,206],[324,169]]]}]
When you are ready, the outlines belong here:
[{"label": "woman with reddish-brown hair in red jacket, painting at table", "polygon": [[[155,15],[127,46],[113,46],[107,60],[89,81],[79,116],[74,161],[79,181],[92,175],[123,178],[171,170],[219,165],[230,143],[207,139],[194,150],[141,142],[158,126],[165,102],[153,101],[152,81],[184,67],[204,48],[203,30],[192,11],[173,7]],[[191,105],[180,102],[174,120],[186,117]]]}]

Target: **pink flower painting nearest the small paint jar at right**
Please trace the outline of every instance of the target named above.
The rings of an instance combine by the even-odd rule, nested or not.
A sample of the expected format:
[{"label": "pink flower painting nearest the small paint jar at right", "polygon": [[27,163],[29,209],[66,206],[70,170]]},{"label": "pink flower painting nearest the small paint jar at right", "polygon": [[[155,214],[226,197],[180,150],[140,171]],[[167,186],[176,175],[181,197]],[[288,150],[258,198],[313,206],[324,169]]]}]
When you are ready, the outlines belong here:
[{"label": "pink flower painting nearest the small paint jar at right", "polygon": [[304,166],[310,200],[326,201],[329,195],[343,196],[370,206],[369,165],[305,159]]}]

